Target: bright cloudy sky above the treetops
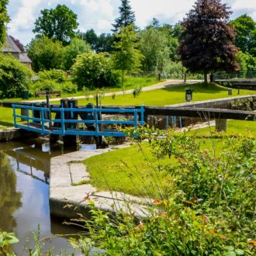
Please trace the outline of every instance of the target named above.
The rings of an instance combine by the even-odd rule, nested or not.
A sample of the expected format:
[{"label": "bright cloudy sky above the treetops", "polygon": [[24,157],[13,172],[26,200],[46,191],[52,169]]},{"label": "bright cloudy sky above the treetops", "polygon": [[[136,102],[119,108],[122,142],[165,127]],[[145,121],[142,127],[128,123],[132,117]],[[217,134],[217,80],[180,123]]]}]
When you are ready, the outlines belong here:
[{"label": "bright cloudy sky above the treetops", "polygon": [[[161,24],[175,24],[192,9],[195,0],[130,0],[135,12],[136,25],[144,29],[153,18]],[[256,20],[256,0],[226,0],[233,11],[230,19],[247,13]],[[8,12],[11,22],[8,33],[26,45],[35,36],[34,22],[42,9],[53,9],[58,4],[67,5],[78,15],[78,29],[85,32],[94,29],[100,33],[110,33],[112,23],[119,16],[121,0],[9,0]]]}]

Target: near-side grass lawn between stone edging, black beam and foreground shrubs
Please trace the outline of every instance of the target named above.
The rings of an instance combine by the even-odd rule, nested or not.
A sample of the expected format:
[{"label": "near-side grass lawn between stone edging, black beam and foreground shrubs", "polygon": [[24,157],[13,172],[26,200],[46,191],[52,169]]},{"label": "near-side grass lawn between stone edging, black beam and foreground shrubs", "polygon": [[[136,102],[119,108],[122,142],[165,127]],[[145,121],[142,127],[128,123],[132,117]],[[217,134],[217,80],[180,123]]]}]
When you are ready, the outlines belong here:
[{"label": "near-side grass lawn between stone edging, black beam and foreground shrubs", "polygon": [[[243,128],[241,128],[243,127]],[[211,127],[214,130],[215,127]],[[233,131],[243,135],[256,136],[256,122],[232,120],[228,123],[227,134]],[[251,133],[247,131],[251,130]],[[192,130],[191,136],[209,136],[209,128]],[[214,133],[213,133],[214,134]],[[197,141],[202,149],[215,150],[220,153],[223,148],[222,137],[199,138]],[[147,143],[140,147],[133,145],[128,148],[110,151],[106,154],[90,157],[84,161],[91,175],[90,183],[99,190],[126,192],[130,195],[150,195],[154,198],[157,185],[166,185],[171,181],[171,175],[157,171],[161,164],[175,164],[175,159],[165,157],[157,160],[151,153]]]}]

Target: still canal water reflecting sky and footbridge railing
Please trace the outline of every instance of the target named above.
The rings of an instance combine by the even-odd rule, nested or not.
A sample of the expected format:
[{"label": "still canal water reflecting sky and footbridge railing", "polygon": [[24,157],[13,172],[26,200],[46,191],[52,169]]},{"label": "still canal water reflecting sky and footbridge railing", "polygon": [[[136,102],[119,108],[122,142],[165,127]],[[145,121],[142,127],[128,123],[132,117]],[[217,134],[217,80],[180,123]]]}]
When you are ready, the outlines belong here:
[{"label": "still canal water reflecting sky and footbridge railing", "polygon": [[27,254],[23,253],[24,246],[33,247],[31,231],[37,232],[38,227],[41,238],[53,238],[45,247],[54,247],[54,254],[74,251],[69,234],[81,230],[52,218],[49,207],[50,157],[74,150],[64,151],[58,144],[50,147],[42,140],[0,143],[0,230],[19,237],[19,244],[14,246],[17,255]]}]

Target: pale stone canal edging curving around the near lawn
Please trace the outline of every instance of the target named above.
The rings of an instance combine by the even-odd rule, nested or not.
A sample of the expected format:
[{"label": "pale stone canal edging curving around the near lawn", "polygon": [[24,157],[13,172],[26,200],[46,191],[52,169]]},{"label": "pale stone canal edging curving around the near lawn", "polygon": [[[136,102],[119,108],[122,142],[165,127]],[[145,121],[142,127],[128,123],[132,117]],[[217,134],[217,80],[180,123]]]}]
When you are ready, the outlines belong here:
[{"label": "pale stone canal edging curving around the near lawn", "polygon": [[[129,147],[124,144],[115,147]],[[98,192],[90,184],[72,185],[79,180],[88,180],[85,164],[79,163],[88,157],[104,154],[113,149],[76,151],[50,159],[50,214],[53,216],[75,219],[79,214],[90,216],[90,203],[95,208],[111,215],[119,210],[137,217],[147,216],[147,204],[150,199],[143,199],[122,192]],[[60,178],[61,177],[61,178]],[[84,177],[84,178],[83,178]]]}]

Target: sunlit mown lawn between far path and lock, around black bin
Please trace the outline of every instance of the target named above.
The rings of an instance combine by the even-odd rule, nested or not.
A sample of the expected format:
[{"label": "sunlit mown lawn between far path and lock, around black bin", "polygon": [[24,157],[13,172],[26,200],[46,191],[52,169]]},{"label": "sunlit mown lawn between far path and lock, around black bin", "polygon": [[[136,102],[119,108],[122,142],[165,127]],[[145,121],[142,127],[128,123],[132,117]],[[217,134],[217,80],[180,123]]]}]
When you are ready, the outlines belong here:
[{"label": "sunlit mown lawn between far path and lock, around black bin", "polygon": [[[185,88],[192,88],[194,90],[192,101],[202,101],[207,99],[227,98],[227,88],[219,85],[205,86],[202,84],[175,86],[172,88],[157,89],[150,92],[141,92],[136,98],[133,94],[116,95],[115,99],[111,96],[102,99],[102,105],[120,105],[120,106],[165,106],[178,103],[185,103]],[[256,91],[240,90],[240,95],[252,95]],[[237,96],[237,90],[234,90],[232,96]],[[78,105],[85,106],[92,99],[79,99]]]}]

